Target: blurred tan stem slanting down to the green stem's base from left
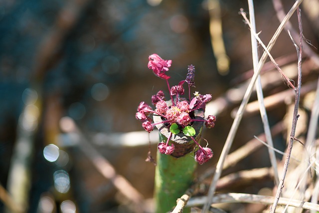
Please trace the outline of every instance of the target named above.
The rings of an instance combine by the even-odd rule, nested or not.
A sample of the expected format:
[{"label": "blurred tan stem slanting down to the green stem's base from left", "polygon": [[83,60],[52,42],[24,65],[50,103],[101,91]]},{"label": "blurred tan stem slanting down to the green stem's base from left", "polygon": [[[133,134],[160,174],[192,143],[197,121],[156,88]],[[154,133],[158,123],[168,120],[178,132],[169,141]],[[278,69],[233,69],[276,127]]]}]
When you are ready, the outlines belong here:
[{"label": "blurred tan stem slanting down to the green stem's base from left", "polygon": [[123,176],[117,174],[111,163],[103,157],[84,137],[77,128],[71,118],[63,118],[65,122],[69,122],[73,129],[71,132],[77,133],[79,138],[79,148],[90,159],[94,167],[108,180],[110,180],[115,188],[121,192],[135,206],[133,211],[140,213],[142,210],[143,196],[126,180]]}]

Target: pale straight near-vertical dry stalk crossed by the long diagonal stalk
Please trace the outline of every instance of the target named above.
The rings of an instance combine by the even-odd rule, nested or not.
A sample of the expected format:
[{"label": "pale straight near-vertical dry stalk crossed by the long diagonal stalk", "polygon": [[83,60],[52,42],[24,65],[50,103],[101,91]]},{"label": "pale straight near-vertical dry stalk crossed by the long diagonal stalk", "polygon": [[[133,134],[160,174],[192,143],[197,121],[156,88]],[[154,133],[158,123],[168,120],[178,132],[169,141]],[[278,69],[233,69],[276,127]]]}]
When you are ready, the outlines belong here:
[{"label": "pale straight near-vertical dry stalk crossed by the long diagonal stalk", "polygon": [[[251,44],[252,44],[253,66],[254,66],[254,72],[256,72],[257,65],[258,65],[258,47],[257,47],[258,44],[257,44],[257,39],[254,36],[254,34],[256,34],[256,23],[255,23],[255,11],[254,11],[253,0],[248,0],[248,7],[249,7],[249,18],[250,18],[250,22],[251,22],[250,27],[251,27]],[[259,103],[260,115],[261,115],[261,119],[262,119],[263,125],[264,125],[266,141],[271,147],[273,147],[274,144],[273,144],[273,139],[271,137],[266,107],[264,104],[264,94],[263,94],[263,89],[262,89],[262,85],[261,85],[260,75],[257,78],[256,91],[257,91],[257,98],[258,98],[258,103]],[[270,159],[272,168],[274,170],[274,182],[275,182],[275,185],[278,185],[279,184],[279,176],[278,176],[277,160],[276,160],[275,152],[273,149],[268,148],[268,153],[269,153],[269,159]]]}]

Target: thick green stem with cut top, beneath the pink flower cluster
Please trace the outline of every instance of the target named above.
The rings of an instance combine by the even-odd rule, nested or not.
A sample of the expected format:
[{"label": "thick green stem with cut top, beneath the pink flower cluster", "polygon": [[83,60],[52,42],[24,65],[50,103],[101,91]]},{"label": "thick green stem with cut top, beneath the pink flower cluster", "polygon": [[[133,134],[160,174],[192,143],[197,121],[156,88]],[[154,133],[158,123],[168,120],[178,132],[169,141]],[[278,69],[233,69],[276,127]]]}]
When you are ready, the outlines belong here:
[{"label": "thick green stem with cut top, beneath the pink flower cluster", "polygon": [[[158,123],[160,130],[160,142],[166,142],[170,136],[169,128],[161,121],[160,116],[154,116],[154,122]],[[194,111],[194,121],[192,127],[196,131],[195,140],[199,143],[204,119],[203,110]],[[180,198],[191,186],[194,180],[194,173],[197,163],[194,160],[194,141],[185,136],[182,132],[172,135],[169,144],[174,144],[174,152],[171,155],[157,154],[157,167],[155,171],[155,213],[166,213],[174,206],[176,200]],[[190,209],[185,209],[184,213],[189,213]]]}]

